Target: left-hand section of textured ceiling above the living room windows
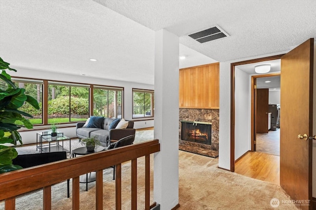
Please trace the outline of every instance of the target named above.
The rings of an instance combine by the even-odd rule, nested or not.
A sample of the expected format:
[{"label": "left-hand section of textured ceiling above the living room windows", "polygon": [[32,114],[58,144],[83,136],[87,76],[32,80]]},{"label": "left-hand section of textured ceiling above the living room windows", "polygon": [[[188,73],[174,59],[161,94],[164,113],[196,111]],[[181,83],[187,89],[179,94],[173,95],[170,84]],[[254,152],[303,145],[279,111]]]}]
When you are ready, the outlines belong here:
[{"label": "left-hand section of textured ceiling above the living room windows", "polygon": [[11,64],[154,84],[155,31],[92,0],[0,0],[0,29]]}]

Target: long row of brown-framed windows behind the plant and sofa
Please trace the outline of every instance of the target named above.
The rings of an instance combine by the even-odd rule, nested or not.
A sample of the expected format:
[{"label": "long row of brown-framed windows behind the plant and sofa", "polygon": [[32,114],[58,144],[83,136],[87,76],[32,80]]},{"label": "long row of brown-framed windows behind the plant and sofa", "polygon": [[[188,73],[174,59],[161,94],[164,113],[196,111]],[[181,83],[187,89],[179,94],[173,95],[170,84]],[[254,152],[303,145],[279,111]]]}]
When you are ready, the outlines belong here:
[{"label": "long row of brown-framed windows behind the plant and sofa", "polygon": [[[39,102],[40,110],[33,108],[29,103],[25,103],[19,109],[33,116],[33,118],[25,118],[34,125],[86,121],[91,115],[123,118],[124,88],[122,87],[19,77],[12,78],[12,81]],[[0,86],[2,89],[7,88],[7,84],[2,80]],[[91,97],[92,93],[93,97]],[[18,120],[15,123],[23,124]]]}]

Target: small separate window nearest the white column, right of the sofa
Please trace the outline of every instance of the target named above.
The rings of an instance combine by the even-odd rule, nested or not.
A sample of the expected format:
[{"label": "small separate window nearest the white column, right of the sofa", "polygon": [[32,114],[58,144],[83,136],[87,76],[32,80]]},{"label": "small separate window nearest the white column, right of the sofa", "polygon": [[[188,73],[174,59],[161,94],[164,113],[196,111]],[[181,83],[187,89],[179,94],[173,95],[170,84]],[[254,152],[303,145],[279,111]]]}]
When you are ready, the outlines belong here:
[{"label": "small separate window nearest the white column, right of the sofa", "polygon": [[133,118],[154,117],[154,90],[133,89]]}]

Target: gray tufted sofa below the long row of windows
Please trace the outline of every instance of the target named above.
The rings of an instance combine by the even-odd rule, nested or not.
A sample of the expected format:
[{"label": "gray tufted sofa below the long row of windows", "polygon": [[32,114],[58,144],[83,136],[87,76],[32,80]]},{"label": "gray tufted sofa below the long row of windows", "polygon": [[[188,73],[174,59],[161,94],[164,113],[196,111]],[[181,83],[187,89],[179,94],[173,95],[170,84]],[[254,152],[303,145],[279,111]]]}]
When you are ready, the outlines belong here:
[{"label": "gray tufted sofa below the long row of windows", "polygon": [[123,137],[135,135],[134,121],[126,120],[128,125],[126,128],[112,128],[109,130],[113,118],[104,118],[101,123],[101,128],[98,127],[83,127],[85,122],[78,122],[76,126],[76,134],[79,139],[96,136],[101,142],[102,146],[107,146],[108,140],[119,140]]}]

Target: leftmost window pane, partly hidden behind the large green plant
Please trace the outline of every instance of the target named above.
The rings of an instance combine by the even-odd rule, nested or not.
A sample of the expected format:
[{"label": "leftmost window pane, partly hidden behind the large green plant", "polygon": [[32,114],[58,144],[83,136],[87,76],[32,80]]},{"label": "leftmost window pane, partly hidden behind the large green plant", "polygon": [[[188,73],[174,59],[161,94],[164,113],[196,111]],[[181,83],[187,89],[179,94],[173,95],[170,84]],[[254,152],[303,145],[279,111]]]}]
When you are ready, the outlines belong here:
[{"label": "leftmost window pane, partly hidden behind the large green plant", "polygon": [[[35,109],[32,105],[25,102],[25,104],[19,108],[20,111],[29,113],[33,118],[24,116],[26,119],[30,120],[32,124],[42,124],[42,102],[43,102],[43,81],[40,80],[28,80],[28,79],[12,79],[14,85],[19,88],[25,89],[25,94],[32,96],[39,102],[40,110]],[[16,124],[23,125],[23,122],[19,120],[15,122]]]}]

